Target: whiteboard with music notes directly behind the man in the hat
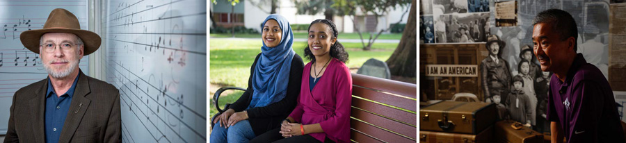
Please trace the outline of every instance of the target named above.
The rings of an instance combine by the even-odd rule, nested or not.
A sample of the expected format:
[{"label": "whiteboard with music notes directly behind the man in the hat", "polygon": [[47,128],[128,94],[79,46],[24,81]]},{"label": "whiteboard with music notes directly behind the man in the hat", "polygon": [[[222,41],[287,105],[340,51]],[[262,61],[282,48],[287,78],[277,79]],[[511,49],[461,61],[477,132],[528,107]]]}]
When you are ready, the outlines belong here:
[{"label": "whiteboard with music notes directly behind the man in the hat", "polygon": [[[19,88],[47,78],[38,54],[26,49],[19,34],[43,28],[55,8],[65,8],[79,19],[81,29],[88,29],[87,1],[0,1],[0,134],[6,134],[9,108]],[[79,64],[88,74],[89,57]]]}]

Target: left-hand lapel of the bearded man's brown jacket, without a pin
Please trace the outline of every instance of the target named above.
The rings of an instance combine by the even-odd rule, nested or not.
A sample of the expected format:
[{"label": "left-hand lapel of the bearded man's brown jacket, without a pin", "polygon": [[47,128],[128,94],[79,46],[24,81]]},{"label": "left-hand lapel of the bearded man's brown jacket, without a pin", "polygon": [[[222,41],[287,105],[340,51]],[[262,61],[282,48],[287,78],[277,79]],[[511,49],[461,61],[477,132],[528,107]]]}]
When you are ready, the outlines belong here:
[{"label": "left-hand lapel of the bearded man's brown jacket, without a pin", "polygon": [[31,105],[31,125],[33,126],[33,133],[37,134],[35,141],[45,142],[46,137],[44,132],[44,111],[46,105],[46,92],[48,87],[48,80],[42,80],[44,82],[42,87],[35,89],[35,97],[29,102]]}]

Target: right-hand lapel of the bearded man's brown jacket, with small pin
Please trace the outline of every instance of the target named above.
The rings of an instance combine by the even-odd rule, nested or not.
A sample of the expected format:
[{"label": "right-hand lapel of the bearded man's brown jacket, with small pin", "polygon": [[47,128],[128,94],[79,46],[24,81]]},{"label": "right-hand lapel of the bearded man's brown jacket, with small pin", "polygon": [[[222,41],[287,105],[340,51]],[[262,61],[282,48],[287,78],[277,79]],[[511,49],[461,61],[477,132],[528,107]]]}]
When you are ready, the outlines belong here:
[{"label": "right-hand lapel of the bearded man's brown jacket, with small pin", "polygon": [[81,120],[89,107],[89,103],[91,103],[91,100],[85,97],[91,92],[88,77],[83,74],[83,72],[80,72],[79,76],[79,81],[74,90],[74,96],[72,96],[70,110],[67,112],[67,117],[63,124],[63,131],[61,131],[61,137],[59,137],[58,142],[70,142],[79,124],[81,124]]}]

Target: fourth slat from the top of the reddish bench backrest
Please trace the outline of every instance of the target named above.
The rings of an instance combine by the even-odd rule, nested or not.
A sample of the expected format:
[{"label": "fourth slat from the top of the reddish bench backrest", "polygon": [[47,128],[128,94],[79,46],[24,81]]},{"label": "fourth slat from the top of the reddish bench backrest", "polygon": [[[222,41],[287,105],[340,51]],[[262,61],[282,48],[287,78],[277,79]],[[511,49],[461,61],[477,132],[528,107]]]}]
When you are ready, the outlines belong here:
[{"label": "fourth slat from the top of the reddish bench backrest", "polygon": [[393,121],[391,119],[380,117],[378,115],[373,115],[369,112],[365,112],[363,110],[358,110],[355,108],[352,108],[351,116],[362,121],[367,121],[369,124],[374,124],[380,128],[385,128],[389,131],[393,131],[414,139],[416,138],[415,135],[417,133],[417,130],[414,126],[402,124],[398,121]]}]

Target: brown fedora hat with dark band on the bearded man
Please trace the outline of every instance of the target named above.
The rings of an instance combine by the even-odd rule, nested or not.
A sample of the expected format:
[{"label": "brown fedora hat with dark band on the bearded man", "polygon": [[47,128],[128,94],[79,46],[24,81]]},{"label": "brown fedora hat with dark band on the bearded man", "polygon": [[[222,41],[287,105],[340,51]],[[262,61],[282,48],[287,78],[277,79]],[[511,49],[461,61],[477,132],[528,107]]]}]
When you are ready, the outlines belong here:
[{"label": "brown fedora hat with dark band on the bearded man", "polygon": [[81,37],[85,46],[84,56],[96,51],[102,42],[96,33],[81,30],[81,25],[76,16],[63,8],[52,10],[42,29],[24,31],[19,35],[19,40],[27,49],[39,53],[39,42],[45,33],[72,33]]}]

